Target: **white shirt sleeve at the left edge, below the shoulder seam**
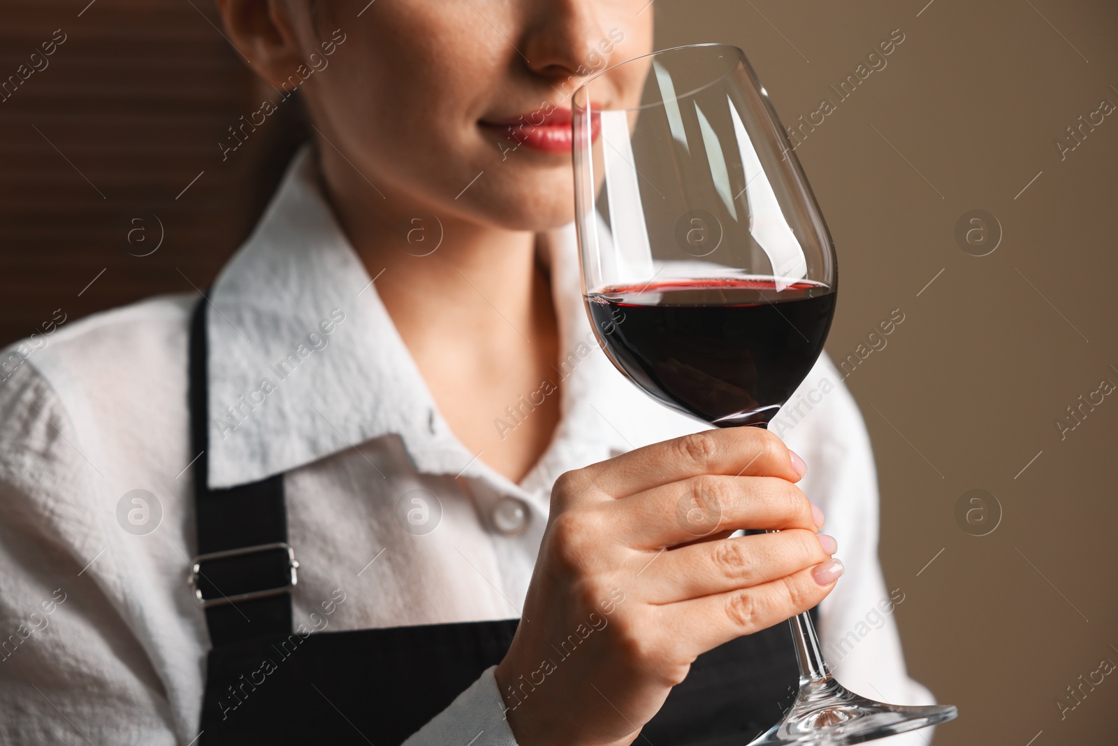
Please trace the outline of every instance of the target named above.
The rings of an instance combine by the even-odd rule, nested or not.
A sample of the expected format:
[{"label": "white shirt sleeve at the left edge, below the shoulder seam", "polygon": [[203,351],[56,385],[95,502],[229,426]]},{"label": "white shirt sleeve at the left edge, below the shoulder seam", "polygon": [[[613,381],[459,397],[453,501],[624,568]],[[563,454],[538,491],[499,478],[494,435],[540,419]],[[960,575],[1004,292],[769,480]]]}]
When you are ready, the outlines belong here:
[{"label": "white shirt sleeve at the left edge, below the shoulder seam", "polygon": [[0,378],[0,743],[176,744],[121,607],[92,450],[30,363]]}]

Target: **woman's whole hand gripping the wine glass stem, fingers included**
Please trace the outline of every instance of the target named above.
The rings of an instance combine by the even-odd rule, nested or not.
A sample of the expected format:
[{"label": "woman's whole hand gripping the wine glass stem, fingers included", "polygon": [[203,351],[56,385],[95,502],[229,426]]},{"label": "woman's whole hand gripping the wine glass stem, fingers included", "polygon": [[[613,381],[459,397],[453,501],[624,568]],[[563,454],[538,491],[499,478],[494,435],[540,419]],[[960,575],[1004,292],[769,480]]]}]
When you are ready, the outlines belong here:
[{"label": "woman's whole hand gripping the wine glass stem, fingers included", "polygon": [[[518,743],[629,744],[701,653],[818,604],[842,565],[805,471],[736,427],[563,474],[496,669]],[[724,538],[737,529],[779,533]]]}]

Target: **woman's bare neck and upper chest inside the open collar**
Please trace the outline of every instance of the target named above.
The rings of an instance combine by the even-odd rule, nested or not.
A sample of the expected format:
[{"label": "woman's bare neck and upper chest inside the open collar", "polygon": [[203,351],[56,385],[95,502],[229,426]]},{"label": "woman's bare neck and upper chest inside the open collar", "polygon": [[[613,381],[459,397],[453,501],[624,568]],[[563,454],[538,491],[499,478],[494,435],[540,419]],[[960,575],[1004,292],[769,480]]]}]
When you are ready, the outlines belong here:
[{"label": "woman's bare neck and upper chest inside the open collar", "polygon": [[331,149],[320,153],[338,220],[443,416],[467,448],[484,451],[484,461],[519,481],[542,455],[559,413],[550,397],[515,437],[494,429],[509,404],[552,377],[558,358],[536,234],[436,218],[377,191]]}]

